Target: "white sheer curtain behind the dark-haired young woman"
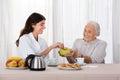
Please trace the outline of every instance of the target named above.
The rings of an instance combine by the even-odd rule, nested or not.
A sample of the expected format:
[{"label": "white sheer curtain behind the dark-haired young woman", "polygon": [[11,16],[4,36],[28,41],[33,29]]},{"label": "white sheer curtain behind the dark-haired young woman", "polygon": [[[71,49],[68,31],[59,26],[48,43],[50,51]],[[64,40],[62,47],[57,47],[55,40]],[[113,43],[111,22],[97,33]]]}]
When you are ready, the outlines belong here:
[{"label": "white sheer curtain behind the dark-haired young woman", "polygon": [[51,0],[0,0],[0,59],[17,56],[16,40],[30,14],[38,12],[46,17],[46,30],[42,35],[53,43]]}]

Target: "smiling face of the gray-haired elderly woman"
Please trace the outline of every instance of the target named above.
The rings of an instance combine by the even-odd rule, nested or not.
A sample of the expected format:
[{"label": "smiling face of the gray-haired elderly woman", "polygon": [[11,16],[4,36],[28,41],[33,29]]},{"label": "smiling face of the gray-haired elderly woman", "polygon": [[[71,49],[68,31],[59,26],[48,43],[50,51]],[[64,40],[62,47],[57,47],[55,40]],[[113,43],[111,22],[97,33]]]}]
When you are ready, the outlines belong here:
[{"label": "smiling face of the gray-haired elderly woman", "polygon": [[93,24],[87,24],[85,26],[83,36],[86,42],[93,41],[96,38],[96,32]]}]

